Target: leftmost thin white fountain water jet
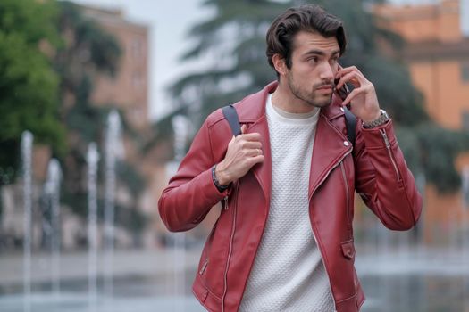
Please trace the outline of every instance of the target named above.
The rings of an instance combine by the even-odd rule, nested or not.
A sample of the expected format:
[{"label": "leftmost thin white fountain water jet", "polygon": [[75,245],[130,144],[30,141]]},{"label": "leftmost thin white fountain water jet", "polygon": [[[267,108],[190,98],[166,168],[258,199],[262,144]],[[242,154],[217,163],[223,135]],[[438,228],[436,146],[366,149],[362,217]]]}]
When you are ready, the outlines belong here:
[{"label": "leftmost thin white fountain water jet", "polygon": [[24,201],[24,241],[23,241],[23,310],[31,310],[31,209],[32,209],[32,160],[33,135],[24,131],[21,135],[21,160],[23,177],[23,201]]}]

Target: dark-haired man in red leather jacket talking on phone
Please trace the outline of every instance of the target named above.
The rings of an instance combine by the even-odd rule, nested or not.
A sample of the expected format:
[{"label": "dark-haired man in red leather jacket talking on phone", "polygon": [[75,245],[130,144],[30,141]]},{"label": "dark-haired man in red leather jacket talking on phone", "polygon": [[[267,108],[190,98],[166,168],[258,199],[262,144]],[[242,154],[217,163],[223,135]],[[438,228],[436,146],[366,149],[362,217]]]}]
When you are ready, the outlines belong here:
[{"label": "dark-haired man in red leather jacket talking on phone", "polygon": [[[214,111],[163,191],[171,231],[222,201],[193,285],[209,311],[358,311],[354,191],[390,229],[415,226],[422,200],[392,121],[360,70],[339,66],[345,46],[341,21],[318,6],[281,14],[267,32],[278,81],[234,105],[237,137]],[[346,82],[354,90],[342,101],[334,90]]]}]

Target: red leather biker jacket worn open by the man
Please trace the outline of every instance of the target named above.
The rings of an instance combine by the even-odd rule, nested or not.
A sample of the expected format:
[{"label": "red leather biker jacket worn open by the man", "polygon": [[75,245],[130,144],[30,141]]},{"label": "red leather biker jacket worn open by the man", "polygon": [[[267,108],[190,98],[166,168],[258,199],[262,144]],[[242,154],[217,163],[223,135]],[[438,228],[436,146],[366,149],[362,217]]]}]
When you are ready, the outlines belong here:
[{"label": "red leather biker jacket worn open by the man", "polygon": [[[205,243],[193,285],[209,311],[237,311],[261,241],[270,206],[272,160],[265,101],[277,84],[235,104],[247,133],[262,136],[264,162],[220,193],[211,168],[226,153],[231,138],[222,111],[214,111],[197,133],[158,201],[170,231],[187,231],[222,201],[222,211]],[[357,123],[360,124],[360,123]],[[422,198],[398,148],[392,121],[381,127],[357,126],[356,145],[348,142],[344,112],[336,99],[323,108],[316,128],[309,179],[309,216],[331,282],[338,312],[358,311],[364,293],[354,267],[352,229],[354,191],[392,230],[415,225]]]}]

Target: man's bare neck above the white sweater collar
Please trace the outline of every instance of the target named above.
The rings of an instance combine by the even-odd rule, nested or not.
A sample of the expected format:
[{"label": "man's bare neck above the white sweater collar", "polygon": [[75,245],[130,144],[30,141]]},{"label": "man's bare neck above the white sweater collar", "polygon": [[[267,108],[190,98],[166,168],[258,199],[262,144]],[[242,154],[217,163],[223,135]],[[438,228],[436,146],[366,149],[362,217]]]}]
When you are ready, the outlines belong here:
[{"label": "man's bare neck above the white sweater collar", "polygon": [[297,98],[295,94],[291,93],[289,86],[281,81],[272,94],[272,105],[293,114],[304,114],[319,110],[318,107],[311,106],[302,99]]}]

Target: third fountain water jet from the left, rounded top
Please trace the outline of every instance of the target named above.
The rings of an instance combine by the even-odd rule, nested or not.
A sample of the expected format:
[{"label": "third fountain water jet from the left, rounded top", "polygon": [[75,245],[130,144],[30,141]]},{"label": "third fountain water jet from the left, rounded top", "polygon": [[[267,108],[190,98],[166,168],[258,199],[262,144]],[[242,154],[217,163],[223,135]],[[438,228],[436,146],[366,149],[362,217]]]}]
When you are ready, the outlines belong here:
[{"label": "third fountain water jet from the left, rounded top", "polygon": [[96,311],[97,301],[97,162],[95,143],[88,145],[88,311]]}]

